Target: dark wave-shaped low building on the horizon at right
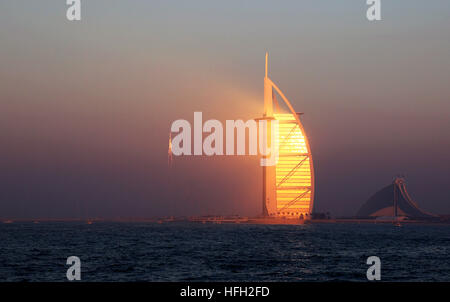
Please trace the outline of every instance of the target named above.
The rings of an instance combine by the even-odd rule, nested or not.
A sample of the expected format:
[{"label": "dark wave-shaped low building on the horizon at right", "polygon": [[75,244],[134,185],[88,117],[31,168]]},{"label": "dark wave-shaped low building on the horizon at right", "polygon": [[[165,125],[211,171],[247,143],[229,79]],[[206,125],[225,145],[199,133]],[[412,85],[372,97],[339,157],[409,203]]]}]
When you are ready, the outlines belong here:
[{"label": "dark wave-shaped low building on the horizon at right", "polygon": [[405,179],[396,177],[392,184],[376,192],[356,214],[358,217],[432,218],[431,213],[420,209],[406,191]]}]

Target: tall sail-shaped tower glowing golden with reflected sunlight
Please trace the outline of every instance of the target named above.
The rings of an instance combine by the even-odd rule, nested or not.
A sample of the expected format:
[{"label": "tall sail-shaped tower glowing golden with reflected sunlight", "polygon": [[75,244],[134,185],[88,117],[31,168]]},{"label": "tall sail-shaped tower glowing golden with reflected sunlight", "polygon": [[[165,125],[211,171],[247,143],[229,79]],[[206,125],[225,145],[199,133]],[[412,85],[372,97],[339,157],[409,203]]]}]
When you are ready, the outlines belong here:
[{"label": "tall sail-shaped tower glowing golden with reflected sunlight", "polygon": [[[274,113],[273,104],[278,107],[274,90],[281,96],[290,113]],[[268,124],[273,120],[279,123],[278,137],[275,138],[279,160],[275,166],[263,167],[263,215],[308,219],[314,205],[311,149],[299,113],[294,111],[283,92],[267,76],[267,54],[262,119],[267,120]]]}]

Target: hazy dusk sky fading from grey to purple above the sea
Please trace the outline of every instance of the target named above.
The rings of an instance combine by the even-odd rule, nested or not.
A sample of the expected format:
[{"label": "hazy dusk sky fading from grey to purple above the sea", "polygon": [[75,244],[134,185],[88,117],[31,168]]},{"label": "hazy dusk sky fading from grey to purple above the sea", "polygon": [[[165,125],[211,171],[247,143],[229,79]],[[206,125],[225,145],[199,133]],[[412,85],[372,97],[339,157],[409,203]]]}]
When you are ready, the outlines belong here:
[{"label": "hazy dusk sky fading from grey to purple above the sea", "polygon": [[171,123],[262,115],[269,74],[310,139],[315,211],[398,174],[450,198],[450,2],[0,2],[0,218],[258,215],[258,158],[176,157]]}]

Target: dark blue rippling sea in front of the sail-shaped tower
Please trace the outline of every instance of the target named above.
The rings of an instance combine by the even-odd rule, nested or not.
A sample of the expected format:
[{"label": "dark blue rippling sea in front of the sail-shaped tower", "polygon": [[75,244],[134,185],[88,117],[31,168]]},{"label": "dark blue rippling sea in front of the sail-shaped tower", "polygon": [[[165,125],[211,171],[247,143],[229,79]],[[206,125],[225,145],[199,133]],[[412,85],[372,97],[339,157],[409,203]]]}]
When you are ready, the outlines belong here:
[{"label": "dark blue rippling sea in front of the sail-shaped tower", "polygon": [[0,223],[0,281],[450,281],[450,226]]}]

